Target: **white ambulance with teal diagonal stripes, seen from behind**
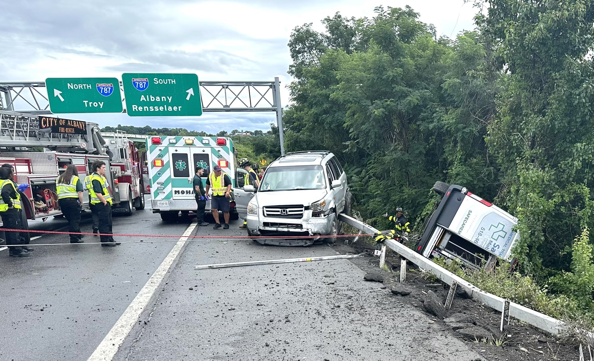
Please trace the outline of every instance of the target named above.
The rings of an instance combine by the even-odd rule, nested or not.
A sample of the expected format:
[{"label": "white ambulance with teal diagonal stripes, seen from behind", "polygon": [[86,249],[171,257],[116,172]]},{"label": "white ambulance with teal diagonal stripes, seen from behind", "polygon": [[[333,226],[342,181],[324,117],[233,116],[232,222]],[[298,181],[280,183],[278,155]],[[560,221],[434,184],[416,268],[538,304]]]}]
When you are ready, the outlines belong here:
[{"label": "white ambulance with teal diagonal stripes, seen from behind", "polygon": [[[179,212],[182,215],[196,212],[192,182],[197,165],[205,169],[202,176],[205,187],[215,165],[229,175],[233,188],[238,184],[237,178],[244,177],[244,169],[235,167],[235,147],[228,137],[153,136],[147,137],[146,149],[151,206],[153,213],[159,213],[166,222],[175,221]],[[230,218],[238,219],[233,193]],[[206,209],[210,209],[210,199]]]}]

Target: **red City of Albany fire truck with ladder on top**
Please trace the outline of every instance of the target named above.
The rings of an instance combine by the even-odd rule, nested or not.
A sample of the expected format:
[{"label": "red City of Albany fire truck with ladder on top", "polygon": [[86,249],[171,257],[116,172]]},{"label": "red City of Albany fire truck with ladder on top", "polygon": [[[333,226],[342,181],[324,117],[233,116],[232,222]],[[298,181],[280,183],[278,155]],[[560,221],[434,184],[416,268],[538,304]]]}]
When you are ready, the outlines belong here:
[{"label": "red City of Albany fire truck with ladder on top", "polygon": [[[29,229],[29,219],[61,216],[56,178],[74,164],[84,181],[96,160],[104,161],[108,169],[113,212],[132,215],[134,209],[144,209],[138,150],[125,134],[111,143],[106,144],[96,123],[0,111],[0,164],[14,167],[17,184],[29,184],[21,192],[23,226]],[[87,190],[83,199],[83,210],[89,209]]]}]

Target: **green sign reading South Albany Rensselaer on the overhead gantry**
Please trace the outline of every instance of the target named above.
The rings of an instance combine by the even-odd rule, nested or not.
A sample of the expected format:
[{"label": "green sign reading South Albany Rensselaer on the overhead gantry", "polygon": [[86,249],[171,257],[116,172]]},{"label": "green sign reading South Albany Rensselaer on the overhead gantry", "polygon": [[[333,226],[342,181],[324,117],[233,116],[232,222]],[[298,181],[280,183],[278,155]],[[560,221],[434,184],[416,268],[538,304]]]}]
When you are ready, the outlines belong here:
[{"label": "green sign reading South Albany Rensselaer on the overhead gantry", "polygon": [[202,115],[196,74],[124,73],[122,84],[131,117]]}]

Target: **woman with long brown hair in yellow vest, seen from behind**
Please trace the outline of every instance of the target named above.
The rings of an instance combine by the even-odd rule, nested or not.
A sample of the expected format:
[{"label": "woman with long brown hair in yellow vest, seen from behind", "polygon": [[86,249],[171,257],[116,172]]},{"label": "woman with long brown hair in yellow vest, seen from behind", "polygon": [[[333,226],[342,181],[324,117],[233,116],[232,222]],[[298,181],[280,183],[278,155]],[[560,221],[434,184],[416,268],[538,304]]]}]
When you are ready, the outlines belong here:
[{"label": "woman with long brown hair in yellow vest, seen from behind", "polygon": [[67,219],[70,232],[70,243],[83,243],[80,233],[80,212],[83,210],[83,184],[78,178],[78,169],[74,164],[69,164],[66,171],[56,178],[56,189],[58,190],[58,205]]}]

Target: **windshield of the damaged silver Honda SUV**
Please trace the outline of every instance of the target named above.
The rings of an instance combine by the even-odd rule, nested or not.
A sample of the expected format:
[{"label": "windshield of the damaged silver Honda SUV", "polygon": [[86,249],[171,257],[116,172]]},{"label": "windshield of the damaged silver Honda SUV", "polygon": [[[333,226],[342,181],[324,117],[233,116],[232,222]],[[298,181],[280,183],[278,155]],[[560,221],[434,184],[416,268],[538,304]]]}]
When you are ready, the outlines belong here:
[{"label": "windshield of the damaged silver Honda SUV", "polygon": [[276,190],[325,189],[326,177],[321,165],[270,167],[261,181],[260,192]]}]

